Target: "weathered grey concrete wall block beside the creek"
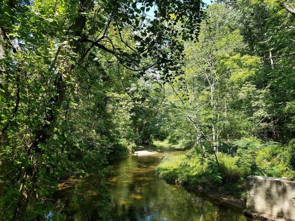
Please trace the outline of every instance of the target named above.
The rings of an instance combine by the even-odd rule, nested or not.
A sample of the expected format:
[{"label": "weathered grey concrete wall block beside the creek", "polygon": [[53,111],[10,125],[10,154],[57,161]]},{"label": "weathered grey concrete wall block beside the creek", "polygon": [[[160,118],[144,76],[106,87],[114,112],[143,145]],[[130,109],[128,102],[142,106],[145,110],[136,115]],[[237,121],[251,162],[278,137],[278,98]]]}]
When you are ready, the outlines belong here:
[{"label": "weathered grey concrete wall block beside the creek", "polygon": [[269,220],[295,221],[295,181],[285,177],[247,177],[245,213]]}]

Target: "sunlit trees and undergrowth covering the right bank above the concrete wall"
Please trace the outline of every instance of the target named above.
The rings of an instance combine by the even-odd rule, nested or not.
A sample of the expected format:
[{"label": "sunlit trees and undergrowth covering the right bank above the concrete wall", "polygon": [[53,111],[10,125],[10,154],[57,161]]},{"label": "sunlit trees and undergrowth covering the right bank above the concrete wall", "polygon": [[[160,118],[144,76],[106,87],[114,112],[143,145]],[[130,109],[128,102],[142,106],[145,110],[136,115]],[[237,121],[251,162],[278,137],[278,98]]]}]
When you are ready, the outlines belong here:
[{"label": "sunlit trees and undergrowth covering the right bank above the concrete wall", "polygon": [[206,14],[167,100],[167,140],[190,151],[157,173],[245,197],[248,175],[295,177],[294,2],[227,1]]}]

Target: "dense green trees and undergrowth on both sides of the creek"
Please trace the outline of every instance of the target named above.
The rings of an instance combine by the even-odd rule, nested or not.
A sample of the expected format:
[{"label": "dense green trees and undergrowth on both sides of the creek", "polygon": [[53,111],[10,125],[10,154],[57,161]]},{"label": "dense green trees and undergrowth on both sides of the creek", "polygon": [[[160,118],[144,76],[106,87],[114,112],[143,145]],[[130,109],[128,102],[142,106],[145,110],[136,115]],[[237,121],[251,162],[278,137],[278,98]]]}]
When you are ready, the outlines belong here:
[{"label": "dense green trees and undergrowth on both sides of the creek", "polygon": [[250,174],[295,177],[294,2],[204,7],[0,0],[1,219],[65,220],[75,178],[94,185],[69,203],[95,194],[107,219],[108,161],[153,141],[189,149],[157,169],[180,184],[243,197]]}]

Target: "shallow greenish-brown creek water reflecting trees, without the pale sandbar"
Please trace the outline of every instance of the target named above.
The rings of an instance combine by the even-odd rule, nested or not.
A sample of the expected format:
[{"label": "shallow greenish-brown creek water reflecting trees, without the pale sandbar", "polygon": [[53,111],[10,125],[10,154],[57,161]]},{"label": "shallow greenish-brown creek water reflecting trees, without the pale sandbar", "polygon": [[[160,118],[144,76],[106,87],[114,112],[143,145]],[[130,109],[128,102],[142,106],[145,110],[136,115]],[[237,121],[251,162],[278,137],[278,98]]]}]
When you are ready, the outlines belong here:
[{"label": "shallow greenish-brown creek water reflecting trees, without the pale sandbar", "polygon": [[[244,216],[242,209],[213,202],[185,187],[158,178],[155,168],[164,152],[183,153],[169,146],[159,146],[157,154],[127,156],[110,163],[114,170],[107,177],[111,199],[110,220],[250,220]],[[73,214],[66,220],[97,220],[96,199],[95,196],[90,197],[83,205],[67,205]]]}]

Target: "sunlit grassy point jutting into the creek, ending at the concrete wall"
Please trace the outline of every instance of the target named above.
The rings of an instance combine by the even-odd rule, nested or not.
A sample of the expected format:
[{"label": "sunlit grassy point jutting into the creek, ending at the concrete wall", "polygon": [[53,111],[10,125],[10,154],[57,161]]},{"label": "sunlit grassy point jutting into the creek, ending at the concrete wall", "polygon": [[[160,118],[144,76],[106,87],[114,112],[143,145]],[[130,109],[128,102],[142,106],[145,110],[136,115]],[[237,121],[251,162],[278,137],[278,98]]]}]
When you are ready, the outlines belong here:
[{"label": "sunlit grassy point jutting into the creek, ending at the concrete wall", "polygon": [[218,159],[220,173],[212,167],[211,158],[201,163],[200,156],[191,155],[190,152],[178,156],[164,155],[156,174],[165,181],[206,192],[214,198],[232,199],[230,201],[245,200],[245,177],[250,175],[250,170],[235,165],[237,159],[234,157],[218,154]]}]

